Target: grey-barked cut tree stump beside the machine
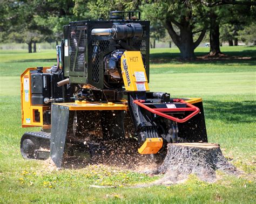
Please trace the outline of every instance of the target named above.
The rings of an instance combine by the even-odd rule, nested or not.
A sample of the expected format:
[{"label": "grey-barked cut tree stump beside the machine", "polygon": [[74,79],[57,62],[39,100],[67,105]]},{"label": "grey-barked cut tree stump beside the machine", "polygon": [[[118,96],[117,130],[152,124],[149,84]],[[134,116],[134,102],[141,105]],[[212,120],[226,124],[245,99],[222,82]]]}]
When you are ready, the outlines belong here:
[{"label": "grey-barked cut tree stump beside the machine", "polygon": [[196,174],[200,180],[214,182],[216,170],[238,174],[237,169],[224,157],[220,146],[214,143],[168,144],[167,154],[154,173],[165,174],[158,184],[171,184]]}]

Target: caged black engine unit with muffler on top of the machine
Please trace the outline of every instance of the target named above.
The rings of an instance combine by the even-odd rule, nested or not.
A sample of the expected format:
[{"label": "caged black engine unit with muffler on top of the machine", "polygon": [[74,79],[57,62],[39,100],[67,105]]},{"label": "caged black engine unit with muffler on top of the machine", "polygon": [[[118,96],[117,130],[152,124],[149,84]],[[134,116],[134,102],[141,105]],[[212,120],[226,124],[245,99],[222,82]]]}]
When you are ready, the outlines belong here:
[{"label": "caged black engine unit with muffler on top of the machine", "polygon": [[127,50],[142,53],[149,79],[149,29],[139,12],[114,11],[110,20],[71,22],[64,26],[64,76],[80,88],[122,89],[120,58]]}]

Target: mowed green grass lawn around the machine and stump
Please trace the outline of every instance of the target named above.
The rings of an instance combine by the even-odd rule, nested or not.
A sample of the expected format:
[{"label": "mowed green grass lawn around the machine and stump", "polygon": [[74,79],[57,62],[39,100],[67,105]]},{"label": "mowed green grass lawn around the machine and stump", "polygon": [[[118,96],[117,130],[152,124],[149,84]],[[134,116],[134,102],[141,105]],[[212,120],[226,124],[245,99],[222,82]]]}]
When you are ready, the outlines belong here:
[{"label": "mowed green grass lawn around the machine and stump", "polygon": [[[209,142],[219,143],[230,162],[244,173],[218,172],[213,184],[193,175],[184,184],[133,188],[158,177],[106,166],[55,170],[45,161],[24,160],[19,75],[27,67],[56,64],[54,50],[40,53],[0,51],[0,203],[139,202],[255,203],[256,47],[221,47],[228,57],[205,59],[197,48],[194,62],[181,62],[176,48],[152,49],[150,89],[173,97],[203,97]],[[93,188],[90,185],[113,186]]]}]

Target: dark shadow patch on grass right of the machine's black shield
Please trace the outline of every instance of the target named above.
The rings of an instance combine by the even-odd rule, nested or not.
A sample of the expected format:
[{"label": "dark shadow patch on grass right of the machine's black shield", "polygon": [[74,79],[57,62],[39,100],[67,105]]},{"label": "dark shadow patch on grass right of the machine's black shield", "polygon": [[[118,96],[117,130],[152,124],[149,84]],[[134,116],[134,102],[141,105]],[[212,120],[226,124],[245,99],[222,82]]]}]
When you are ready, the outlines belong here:
[{"label": "dark shadow patch on grass right of the machine's black shield", "polygon": [[204,101],[205,117],[232,123],[252,123],[256,118],[255,101]]}]

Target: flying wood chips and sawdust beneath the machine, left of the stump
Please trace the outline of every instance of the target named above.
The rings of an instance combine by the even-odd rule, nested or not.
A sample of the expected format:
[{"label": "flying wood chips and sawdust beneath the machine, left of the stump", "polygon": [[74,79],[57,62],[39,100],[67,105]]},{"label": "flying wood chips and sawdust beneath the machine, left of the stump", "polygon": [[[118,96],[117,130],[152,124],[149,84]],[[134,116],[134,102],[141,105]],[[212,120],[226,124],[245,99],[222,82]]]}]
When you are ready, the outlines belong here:
[{"label": "flying wood chips and sawdust beneath the machine, left of the stump", "polygon": [[150,155],[138,153],[138,142],[134,138],[102,141],[99,149],[87,157],[64,156],[64,168],[83,168],[87,165],[103,164],[125,170],[145,171],[157,167]]}]

